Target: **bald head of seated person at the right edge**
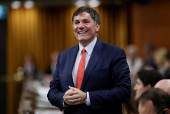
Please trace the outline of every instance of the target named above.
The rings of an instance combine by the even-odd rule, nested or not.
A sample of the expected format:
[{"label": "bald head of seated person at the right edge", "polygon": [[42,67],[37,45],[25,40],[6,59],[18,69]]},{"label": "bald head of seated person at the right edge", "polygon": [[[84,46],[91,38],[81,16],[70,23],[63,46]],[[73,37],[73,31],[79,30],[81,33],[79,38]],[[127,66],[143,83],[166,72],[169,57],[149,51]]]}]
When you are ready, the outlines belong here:
[{"label": "bald head of seated person at the right edge", "polygon": [[163,79],[156,83],[155,88],[163,89],[170,95],[170,79]]}]

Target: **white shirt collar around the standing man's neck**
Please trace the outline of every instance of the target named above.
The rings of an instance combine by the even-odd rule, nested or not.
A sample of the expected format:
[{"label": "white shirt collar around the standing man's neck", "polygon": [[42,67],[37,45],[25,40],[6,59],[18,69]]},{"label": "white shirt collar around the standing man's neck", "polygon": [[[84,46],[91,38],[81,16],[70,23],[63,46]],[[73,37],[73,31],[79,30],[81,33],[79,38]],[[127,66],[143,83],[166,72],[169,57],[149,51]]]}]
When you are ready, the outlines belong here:
[{"label": "white shirt collar around the standing man's neck", "polygon": [[[92,51],[93,51],[93,48],[95,46],[97,42],[97,37],[95,37],[95,39],[90,43],[88,44],[86,47],[85,47],[85,50],[87,52],[87,54],[90,56]],[[81,55],[81,50],[83,49],[84,47],[79,43],[79,54]]]}]

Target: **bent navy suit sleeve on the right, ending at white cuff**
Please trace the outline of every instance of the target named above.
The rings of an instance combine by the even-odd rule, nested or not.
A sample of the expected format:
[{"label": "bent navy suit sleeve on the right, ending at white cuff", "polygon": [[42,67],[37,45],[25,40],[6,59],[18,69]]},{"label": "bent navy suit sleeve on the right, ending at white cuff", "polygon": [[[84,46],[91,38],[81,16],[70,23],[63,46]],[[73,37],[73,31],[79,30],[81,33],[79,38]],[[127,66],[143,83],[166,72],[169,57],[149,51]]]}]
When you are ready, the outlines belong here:
[{"label": "bent navy suit sleeve on the right, ending at white cuff", "polygon": [[115,54],[111,62],[110,72],[113,82],[111,89],[89,92],[92,109],[99,109],[110,104],[123,103],[130,99],[130,72],[123,49],[120,48]]}]

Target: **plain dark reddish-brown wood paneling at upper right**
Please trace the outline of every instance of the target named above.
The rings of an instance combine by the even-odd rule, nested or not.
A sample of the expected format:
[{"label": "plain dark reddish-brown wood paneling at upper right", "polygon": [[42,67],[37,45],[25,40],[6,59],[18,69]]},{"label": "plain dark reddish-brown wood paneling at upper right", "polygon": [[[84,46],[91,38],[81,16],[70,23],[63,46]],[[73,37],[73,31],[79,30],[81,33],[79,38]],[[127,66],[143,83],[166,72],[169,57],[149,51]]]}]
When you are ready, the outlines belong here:
[{"label": "plain dark reddish-brown wood paneling at upper right", "polygon": [[131,43],[140,49],[145,43],[170,50],[170,1],[151,0],[147,4],[132,4]]}]

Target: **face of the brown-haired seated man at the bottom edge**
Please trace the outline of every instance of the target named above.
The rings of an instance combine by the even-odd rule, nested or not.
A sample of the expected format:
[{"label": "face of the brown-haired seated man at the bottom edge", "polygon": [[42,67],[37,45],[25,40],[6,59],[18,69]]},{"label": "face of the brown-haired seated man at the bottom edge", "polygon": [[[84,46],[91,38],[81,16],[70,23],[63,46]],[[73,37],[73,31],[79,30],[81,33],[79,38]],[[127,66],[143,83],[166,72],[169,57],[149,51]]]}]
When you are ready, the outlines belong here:
[{"label": "face of the brown-haired seated man at the bottom edge", "polygon": [[146,101],[144,104],[139,102],[138,111],[139,114],[157,114],[154,110],[153,102],[151,100]]}]

